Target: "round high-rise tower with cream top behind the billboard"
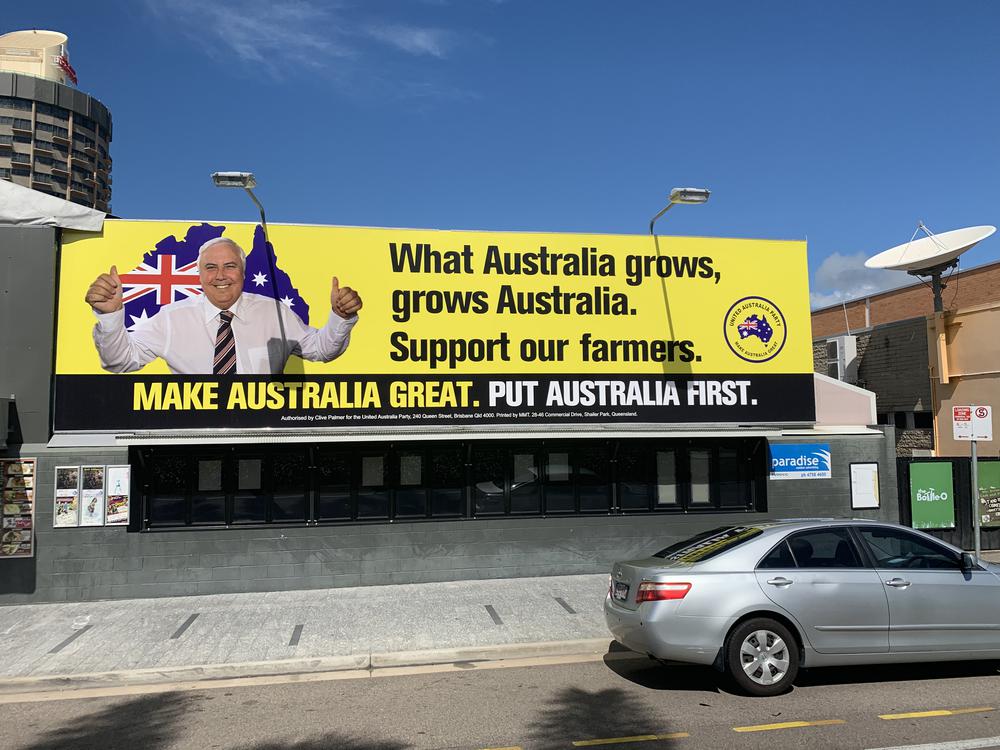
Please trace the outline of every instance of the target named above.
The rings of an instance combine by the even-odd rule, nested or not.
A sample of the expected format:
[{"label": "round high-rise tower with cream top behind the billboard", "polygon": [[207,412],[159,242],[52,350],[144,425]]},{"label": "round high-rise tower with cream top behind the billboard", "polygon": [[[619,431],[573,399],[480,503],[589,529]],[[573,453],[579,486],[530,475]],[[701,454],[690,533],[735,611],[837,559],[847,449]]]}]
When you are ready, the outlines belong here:
[{"label": "round high-rise tower with cream top behind the billboard", "polygon": [[0,35],[0,178],[109,211],[111,112],[75,84],[65,34]]}]

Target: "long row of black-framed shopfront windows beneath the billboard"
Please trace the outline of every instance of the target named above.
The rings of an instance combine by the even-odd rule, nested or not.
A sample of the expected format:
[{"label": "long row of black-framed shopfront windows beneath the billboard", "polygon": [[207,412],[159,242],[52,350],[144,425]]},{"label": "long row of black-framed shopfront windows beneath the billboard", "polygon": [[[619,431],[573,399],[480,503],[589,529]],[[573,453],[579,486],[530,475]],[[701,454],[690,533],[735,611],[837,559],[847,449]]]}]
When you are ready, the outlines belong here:
[{"label": "long row of black-framed shopfront windows beneath the billboard", "polygon": [[766,507],[762,439],[133,451],[146,528]]}]

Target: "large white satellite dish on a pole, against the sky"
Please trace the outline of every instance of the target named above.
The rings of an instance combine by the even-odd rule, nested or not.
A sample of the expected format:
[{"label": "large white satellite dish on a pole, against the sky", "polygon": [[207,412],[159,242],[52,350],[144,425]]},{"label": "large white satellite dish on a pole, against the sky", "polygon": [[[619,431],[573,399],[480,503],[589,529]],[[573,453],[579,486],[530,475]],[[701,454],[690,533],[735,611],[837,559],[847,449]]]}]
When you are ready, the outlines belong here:
[{"label": "large white satellite dish on a pole, against the sky", "polygon": [[[917,232],[923,230],[926,237],[919,240],[910,238],[904,245],[889,248],[865,261],[865,268],[879,268],[886,271],[906,271],[912,276],[929,276],[934,290],[934,312],[944,312],[941,291],[945,285],[941,275],[958,265],[958,256],[997,231],[996,227],[980,226],[954,229],[942,234],[934,234],[923,222],[917,225]],[[916,237],[917,232],[913,233]]]}]

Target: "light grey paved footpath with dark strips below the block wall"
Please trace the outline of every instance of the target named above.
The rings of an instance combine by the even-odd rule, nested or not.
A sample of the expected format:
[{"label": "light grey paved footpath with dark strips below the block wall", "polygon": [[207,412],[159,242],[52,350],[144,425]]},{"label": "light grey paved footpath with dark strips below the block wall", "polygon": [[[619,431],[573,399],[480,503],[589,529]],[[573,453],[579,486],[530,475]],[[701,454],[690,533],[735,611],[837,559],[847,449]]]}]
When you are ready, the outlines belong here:
[{"label": "light grey paved footpath with dark strips below the block wall", "polygon": [[0,694],[605,653],[607,575],[0,607]]}]

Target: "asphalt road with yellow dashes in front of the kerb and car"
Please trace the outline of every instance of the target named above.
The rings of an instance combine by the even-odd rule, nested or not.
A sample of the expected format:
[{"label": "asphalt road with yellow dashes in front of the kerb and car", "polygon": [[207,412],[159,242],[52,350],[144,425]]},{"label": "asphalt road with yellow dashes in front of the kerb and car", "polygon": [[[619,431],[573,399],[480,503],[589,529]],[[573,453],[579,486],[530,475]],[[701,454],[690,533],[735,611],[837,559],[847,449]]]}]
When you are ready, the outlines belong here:
[{"label": "asphalt road with yellow dashes in front of the kerb and car", "polygon": [[[646,659],[385,670],[374,677],[0,704],[9,750],[1000,747],[996,662],[803,673],[752,699]],[[24,697],[7,696],[5,701]],[[926,714],[924,712],[934,712]]]}]

